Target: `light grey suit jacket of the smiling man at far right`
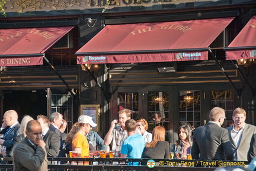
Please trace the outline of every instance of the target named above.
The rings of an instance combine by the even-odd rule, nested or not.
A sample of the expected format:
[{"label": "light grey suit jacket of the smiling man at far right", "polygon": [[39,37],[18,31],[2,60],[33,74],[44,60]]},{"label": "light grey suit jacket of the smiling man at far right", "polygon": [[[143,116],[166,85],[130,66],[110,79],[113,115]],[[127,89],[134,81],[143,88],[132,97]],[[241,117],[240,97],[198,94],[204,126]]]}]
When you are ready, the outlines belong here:
[{"label": "light grey suit jacket of the smiling man at far right", "polygon": [[237,155],[238,160],[242,160],[242,161],[250,160],[251,157],[249,156],[249,153],[250,153],[249,149],[250,149],[250,146],[252,145],[252,142],[251,142],[252,136],[254,134],[256,134],[256,127],[254,125],[250,125],[250,124],[245,123],[244,131],[241,135],[241,140],[240,140],[240,143],[239,143],[238,147],[236,147],[236,145],[233,142],[233,139],[231,137],[232,128],[233,128],[233,126],[230,126],[226,129],[229,132],[229,139],[230,139],[230,142],[231,142],[233,155],[234,156]]}]

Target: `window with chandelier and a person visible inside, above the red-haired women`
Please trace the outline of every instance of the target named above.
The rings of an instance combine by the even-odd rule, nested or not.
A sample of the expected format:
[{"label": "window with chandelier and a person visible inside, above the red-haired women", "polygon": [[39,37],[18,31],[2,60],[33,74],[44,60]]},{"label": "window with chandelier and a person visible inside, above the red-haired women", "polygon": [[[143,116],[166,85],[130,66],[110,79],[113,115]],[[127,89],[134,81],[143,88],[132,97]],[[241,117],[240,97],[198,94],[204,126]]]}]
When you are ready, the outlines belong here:
[{"label": "window with chandelier and a person visible inside, above the red-haired women", "polygon": [[[169,93],[168,92],[148,92],[148,131],[152,131],[156,125],[163,125],[165,130],[169,130]],[[161,115],[161,120],[158,121]]]}]

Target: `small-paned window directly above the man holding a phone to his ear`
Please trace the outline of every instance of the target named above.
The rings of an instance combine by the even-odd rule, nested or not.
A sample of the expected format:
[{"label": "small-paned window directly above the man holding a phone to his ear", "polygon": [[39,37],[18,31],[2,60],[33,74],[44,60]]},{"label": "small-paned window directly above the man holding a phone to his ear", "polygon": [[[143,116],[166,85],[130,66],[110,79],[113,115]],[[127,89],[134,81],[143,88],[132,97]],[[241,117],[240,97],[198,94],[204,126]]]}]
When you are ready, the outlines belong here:
[{"label": "small-paned window directly above the man holding a phone to his ear", "polygon": [[132,119],[138,119],[139,111],[139,93],[138,92],[119,92],[119,111],[122,109],[130,109],[132,111]]}]

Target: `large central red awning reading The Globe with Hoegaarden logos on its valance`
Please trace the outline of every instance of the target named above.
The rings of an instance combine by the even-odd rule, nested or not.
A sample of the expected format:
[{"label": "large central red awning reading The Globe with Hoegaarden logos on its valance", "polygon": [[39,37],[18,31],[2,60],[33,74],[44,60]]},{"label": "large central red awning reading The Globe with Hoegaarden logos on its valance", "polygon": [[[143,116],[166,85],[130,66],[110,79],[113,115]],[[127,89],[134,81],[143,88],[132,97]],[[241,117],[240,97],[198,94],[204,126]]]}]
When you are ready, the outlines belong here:
[{"label": "large central red awning reading The Globe with Hoegaarden logos on its valance", "polygon": [[76,52],[77,63],[206,60],[209,45],[232,20],[107,25]]}]

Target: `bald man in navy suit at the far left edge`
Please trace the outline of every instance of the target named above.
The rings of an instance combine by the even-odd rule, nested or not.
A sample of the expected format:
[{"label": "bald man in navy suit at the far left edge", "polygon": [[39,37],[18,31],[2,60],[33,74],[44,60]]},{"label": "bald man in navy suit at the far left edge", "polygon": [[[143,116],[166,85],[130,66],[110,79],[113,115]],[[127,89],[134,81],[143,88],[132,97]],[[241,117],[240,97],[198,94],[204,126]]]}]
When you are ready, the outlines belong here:
[{"label": "bald man in navy suit at the far left edge", "polygon": [[9,110],[6,111],[4,114],[4,119],[3,121],[5,122],[5,124],[7,125],[7,127],[9,127],[6,131],[6,133],[4,134],[4,138],[0,139],[0,144],[2,146],[6,146],[7,150],[7,157],[11,157],[9,155],[12,146],[14,144],[14,137],[17,136],[17,131],[20,128],[20,124],[18,122],[18,114],[16,111],[14,110]]}]

